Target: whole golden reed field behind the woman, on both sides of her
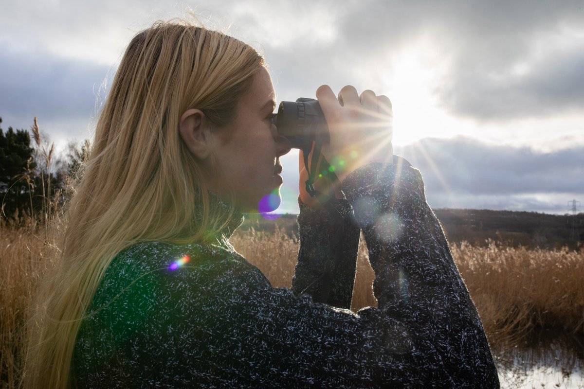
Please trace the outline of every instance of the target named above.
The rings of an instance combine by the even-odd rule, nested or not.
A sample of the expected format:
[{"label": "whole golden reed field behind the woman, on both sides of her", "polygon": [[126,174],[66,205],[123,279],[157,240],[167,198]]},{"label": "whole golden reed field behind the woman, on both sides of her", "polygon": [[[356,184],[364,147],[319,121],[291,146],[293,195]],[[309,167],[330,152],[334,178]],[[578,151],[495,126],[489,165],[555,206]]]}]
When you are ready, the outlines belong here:
[{"label": "whole golden reed field behind the woman, on both sides of her", "polygon": [[[238,230],[234,247],[267,276],[274,287],[290,286],[298,241],[279,225]],[[34,223],[0,225],[0,386],[11,388],[19,367],[19,339],[30,288],[43,269],[51,236]],[[352,310],[375,306],[373,271],[361,241]],[[473,297],[493,351],[524,345],[541,330],[584,335],[584,248],[527,249],[488,240],[481,246],[451,244],[454,260]],[[564,367],[562,367],[564,369]],[[568,369],[566,367],[566,369]],[[563,370],[562,370],[563,371]]]}]

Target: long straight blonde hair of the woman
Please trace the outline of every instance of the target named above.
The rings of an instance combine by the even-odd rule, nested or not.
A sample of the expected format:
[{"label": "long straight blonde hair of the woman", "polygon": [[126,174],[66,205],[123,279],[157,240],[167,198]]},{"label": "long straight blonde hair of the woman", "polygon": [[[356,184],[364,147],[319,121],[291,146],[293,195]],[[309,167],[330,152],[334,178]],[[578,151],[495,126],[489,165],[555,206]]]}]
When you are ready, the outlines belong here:
[{"label": "long straight blonde hair of the woman", "polygon": [[65,212],[60,260],[37,288],[25,387],[71,385],[85,310],[123,248],[208,239],[230,221],[211,201],[204,171],[180,138],[180,116],[199,108],[211,124],[228,124],[262,66],[248,44],[183,22],[158,22],[133,38]]}]

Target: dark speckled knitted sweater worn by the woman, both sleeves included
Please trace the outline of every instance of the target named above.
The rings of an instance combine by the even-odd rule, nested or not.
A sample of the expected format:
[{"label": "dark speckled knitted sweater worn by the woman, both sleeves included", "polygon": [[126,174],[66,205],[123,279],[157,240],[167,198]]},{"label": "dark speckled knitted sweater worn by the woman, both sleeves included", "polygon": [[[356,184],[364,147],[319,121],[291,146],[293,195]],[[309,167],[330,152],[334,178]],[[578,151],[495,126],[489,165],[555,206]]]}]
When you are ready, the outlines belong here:
[{"label": "dark speckled knitted sweater worn by the woman, both sleeves included", "polygon": [[[419,171],[369,164],[342,190],[359,225],[300,202],[291,290],[272,288],[228,243],[241,218],[214,242],[123,250],[79,330],[74,386],[498,388],[477,310]],[[315,302],[350,303],[360,229],[378,308],[352,313]],[[325,276],[332,286],[323,293]]]}]

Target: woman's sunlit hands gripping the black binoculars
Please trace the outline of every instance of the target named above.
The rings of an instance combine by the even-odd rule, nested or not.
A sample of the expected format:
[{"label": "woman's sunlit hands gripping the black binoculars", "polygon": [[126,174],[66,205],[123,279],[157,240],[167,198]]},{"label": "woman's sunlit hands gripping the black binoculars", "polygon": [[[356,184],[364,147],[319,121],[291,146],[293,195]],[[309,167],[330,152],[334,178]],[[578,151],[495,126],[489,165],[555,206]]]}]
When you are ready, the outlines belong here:
[{"label": "woman's sunlit hands gripping the black binoculars", "polygon": [[[387,96],[377,96],[371,90],[365,90],[359,95],[353,86],[347,85],[336,97],[328,85],[322,85],[317,89],[317,99],[330,135],[330,142],[322,145],[321,158],[324,156],[331,164],[331,169],[341,183],[352,171],[367,163],[391,163],[393,113]],[[309,163],[311,157],[312,152]],[[299,169],[301,200],[312,208],[319,208],[321,204],[305,188],[308,172],[304,167],[302,151],[299,155]],[[319,177],[322,172],[319,166],[317,169],[315,189],[324,193],[335,191],[335,195],[340,197],[339,188],[326,175]]]}]

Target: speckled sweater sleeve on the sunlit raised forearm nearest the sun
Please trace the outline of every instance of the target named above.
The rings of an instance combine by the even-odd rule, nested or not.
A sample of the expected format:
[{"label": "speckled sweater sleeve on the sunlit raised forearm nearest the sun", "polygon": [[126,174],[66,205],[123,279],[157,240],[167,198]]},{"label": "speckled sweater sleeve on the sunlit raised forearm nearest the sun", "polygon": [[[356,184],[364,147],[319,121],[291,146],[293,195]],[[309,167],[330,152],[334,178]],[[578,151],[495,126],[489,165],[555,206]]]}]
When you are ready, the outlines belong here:
[{"label": "speckled sweater sleeve on the sunlit raised forearm nearest the sun", "polygon": [[378,307],[435,353],[451,387],[498,387],[484,329],[454,264],[422,176],[401,164],[370,164],[343,183],[376,273]]}]

